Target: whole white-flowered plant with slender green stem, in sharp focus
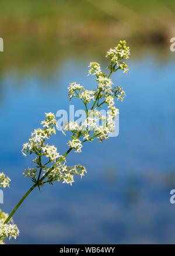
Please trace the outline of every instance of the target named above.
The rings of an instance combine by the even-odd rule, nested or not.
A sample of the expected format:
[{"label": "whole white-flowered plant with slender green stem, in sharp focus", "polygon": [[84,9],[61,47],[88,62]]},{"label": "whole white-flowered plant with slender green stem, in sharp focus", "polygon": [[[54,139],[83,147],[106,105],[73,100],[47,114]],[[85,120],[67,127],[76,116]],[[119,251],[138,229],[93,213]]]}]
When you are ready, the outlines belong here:
[{"label": "whole white-flowered plant with slender green stem, in sharp focus", "polygon": [[[86,90],[82,85],[72,82],[69,87],[69,99],[78,98],[85,106],[85,122],[67,122],[64,124],[64,133],[71,133],[71,140],[68,141],[68,150],[64,154],[58,153],[57,147],[47,143],[51,136],[56,134],[55,126],[57,120],[53,113],[46,113],[46,119],[41,122],[42,128],[35,129],[27,143],[23,144],[22,154],[33,155],[32,168],[24,170],[24,177],[28,177],[33,182],[31,188],[24,194],[17,203],[10,215],[0,210],[0,243],[3,244],[6,238],[16,238],[19,236],[17,226],[13,224],[12,216],[22,204],[24,199],[38,187],[41,189],[45,184],[54,184],[60,182],[72,185],[74,175],[83,177],[86,174],[86,168],[81,164],[68,166],[66,157],[74,150],[81,153],[83,144],[86,141],[93,141],[95,138],[100,141],[108,139],[114,132],[114,118],[119,110],[115,108],[115,99],[123,101],[125,92],[120,87],[115,87],[110,79],[111,74],[117,70],[128,72],[128,65],[125,60],[129,58],[130,49],[126,46],[126,41],[120,41],[117,47],[107,51],[106,57],[110,59],[108,65],[108,74],[101,70],[100,64],[92,62],[89,65],[89,75],[95,75],[97,88]],[[100,112],[102,105],[106,105],[108,116]],[[97,125],[97,121],[105,121]],[[5,174],[0,173],[0,186],[6,188],[9,186],[10,179]]]}]

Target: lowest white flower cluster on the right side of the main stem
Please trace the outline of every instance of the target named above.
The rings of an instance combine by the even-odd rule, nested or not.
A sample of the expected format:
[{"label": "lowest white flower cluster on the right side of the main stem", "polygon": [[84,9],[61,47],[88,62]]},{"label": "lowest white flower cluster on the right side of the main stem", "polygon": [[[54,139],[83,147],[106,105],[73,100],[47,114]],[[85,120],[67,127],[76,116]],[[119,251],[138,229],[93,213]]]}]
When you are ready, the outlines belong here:
[{"label": "lowest white flower cluster on the right side of the main stem", "polygon": [[[48,169],[45,169],[47,172]],[[57,167],[55,167],[47,176],[47,182],[54,182],[54,181],[62,181],[62,183],[66,183],[72,186],[74,182],[74,175],[78,174],[81,178],[85,175],[86,169],[81,164],[77,164],[75,166],[67,166],[65,163],[59,163]]]}]

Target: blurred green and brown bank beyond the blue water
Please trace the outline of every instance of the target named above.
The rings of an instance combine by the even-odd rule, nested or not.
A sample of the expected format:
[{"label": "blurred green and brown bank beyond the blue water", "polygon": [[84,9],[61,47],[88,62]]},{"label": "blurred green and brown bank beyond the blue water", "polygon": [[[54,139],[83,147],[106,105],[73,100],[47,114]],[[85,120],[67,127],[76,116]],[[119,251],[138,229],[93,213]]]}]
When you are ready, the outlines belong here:
[{"label": "blurred green and brown bank beyond the blue water", "polygon": [[0,37],[7,67],[61,63],[65,54],[104,54],[119,39],[132,52],[175,35],[174,0],[1,0]]}]

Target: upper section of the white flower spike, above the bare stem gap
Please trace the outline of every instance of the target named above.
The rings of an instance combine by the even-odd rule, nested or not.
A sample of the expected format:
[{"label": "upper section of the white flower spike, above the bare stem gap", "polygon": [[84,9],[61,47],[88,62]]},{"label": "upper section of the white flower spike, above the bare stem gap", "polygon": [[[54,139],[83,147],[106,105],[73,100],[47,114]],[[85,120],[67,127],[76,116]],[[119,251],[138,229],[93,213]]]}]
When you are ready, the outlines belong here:
[{"label": "upper section of the white flower spike, above the bare stem gap", "polygon": [[[91,62],[89,65],[89,75],[95,75],[97,81],[97,89],[95,91],[85,90],[82,85],[75,82],[69,85],[69,98],[76,97],[82,100],[86,106],[86,120],[81,125],[77,122],[68,122],[64,126],[65,131],[71,131],[73,133],[72,140],[68,142],[69,147],[75,148],[76,152],[81,152],[82,143],[81,136],[85,140],[91,141],[94,137],[98,137],[100,141],[108,139],[110,133],[115,129],[115,117],[119,114],[119,110],[115,108],[115,99],[119,101],[124,100],[125,91],[120,87],[113,88],[113,82],[110,79],[110,75],[118,69],[128,71],[128,65],[124,62],[130,55],[130,49],[126,46],[126,41],[120,41],[117,47],[107,51],[106,57],[109,57],[111,63],[109,65],[110,74],[106,75],[101,71],[100,64],[97,62]],[[87,103],[93,105],[90,108],[92,113],[87,111]],[[107,104],[107,116],[100,115],[97,108]],[[105,120],[105,122],[104,122]],[[103,121],[102,125],[99,125],[100,121]],[[93,133],[90,132],[93,130]]]}]

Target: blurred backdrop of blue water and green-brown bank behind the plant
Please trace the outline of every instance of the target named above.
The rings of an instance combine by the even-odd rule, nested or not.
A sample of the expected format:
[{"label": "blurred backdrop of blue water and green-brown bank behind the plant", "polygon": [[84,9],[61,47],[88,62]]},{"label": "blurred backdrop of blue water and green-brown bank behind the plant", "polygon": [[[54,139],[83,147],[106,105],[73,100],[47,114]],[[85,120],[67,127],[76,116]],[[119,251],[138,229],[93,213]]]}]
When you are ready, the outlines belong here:
[{"label": "blurred backdrop of blue water and green-brown bank behind the plant", "polygon": [[[69,82],[95,86],[90,61],[105,68],[119,39],[131,46],[129,73],[113,75],[127,94],[119,136],[69,155],[69,165],[88,169],[72,187],[29,196],[14,216],[16,243],[175,243],[174,11],[173,0],[1,0],[0,168],[12,179],[5,212],[31,185],[20,150],[44,112],[68,109]],[[55,137],[61,153],[67,139]]]}]

